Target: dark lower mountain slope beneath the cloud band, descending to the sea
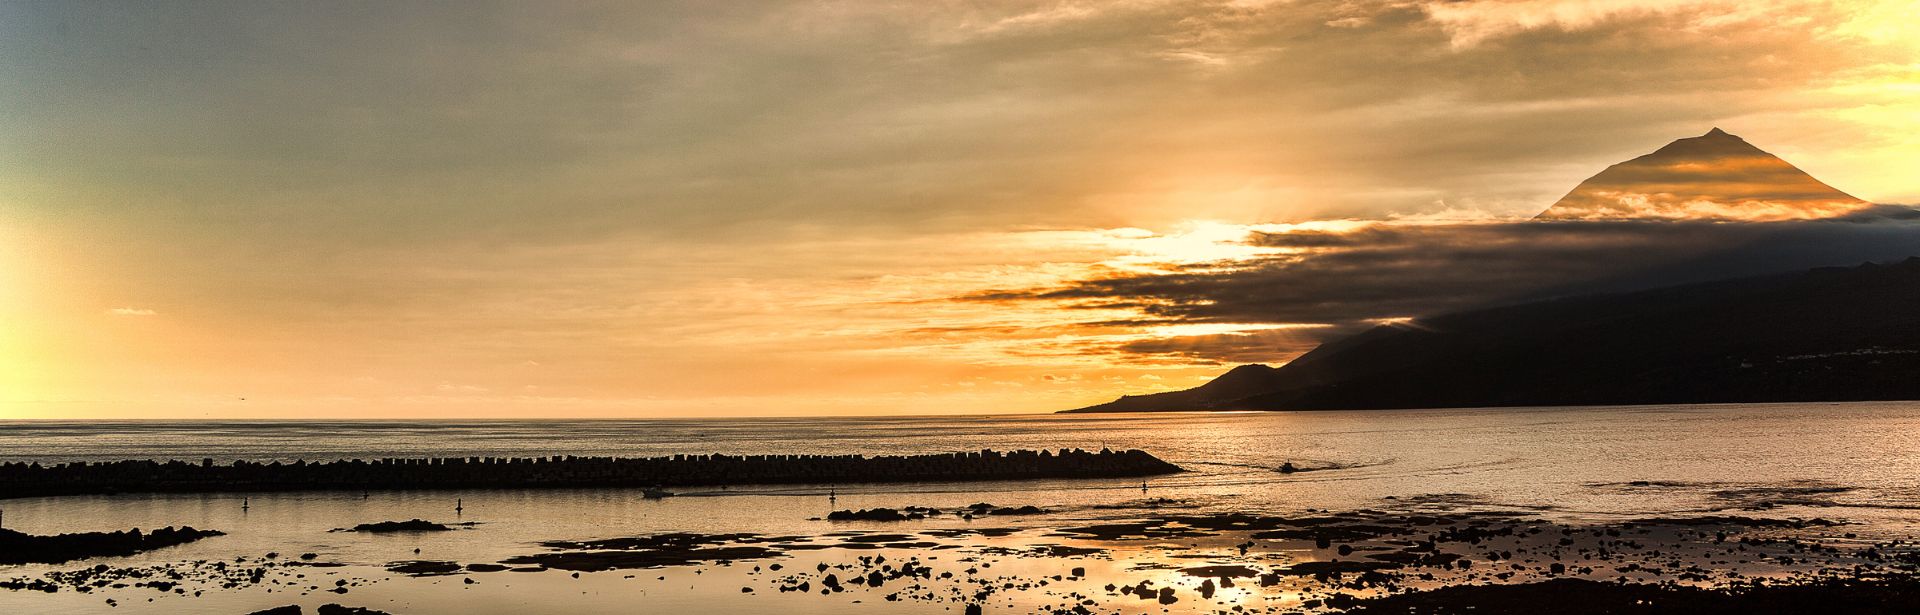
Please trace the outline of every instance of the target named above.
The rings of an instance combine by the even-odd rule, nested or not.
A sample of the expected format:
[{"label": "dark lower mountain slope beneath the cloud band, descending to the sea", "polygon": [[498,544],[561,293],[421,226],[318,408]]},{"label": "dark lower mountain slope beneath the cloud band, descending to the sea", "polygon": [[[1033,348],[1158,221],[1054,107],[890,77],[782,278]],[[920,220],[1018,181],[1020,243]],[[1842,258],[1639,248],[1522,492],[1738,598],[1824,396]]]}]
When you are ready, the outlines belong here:
[{"label": "dark lower mountain slope beneath the cloud band, descending to the sea", "polygon": [[1242,375],[1077,411],[1920,400],[1912,306],[1920,259],[1536,302],[1331,342],[1260,394]]}]

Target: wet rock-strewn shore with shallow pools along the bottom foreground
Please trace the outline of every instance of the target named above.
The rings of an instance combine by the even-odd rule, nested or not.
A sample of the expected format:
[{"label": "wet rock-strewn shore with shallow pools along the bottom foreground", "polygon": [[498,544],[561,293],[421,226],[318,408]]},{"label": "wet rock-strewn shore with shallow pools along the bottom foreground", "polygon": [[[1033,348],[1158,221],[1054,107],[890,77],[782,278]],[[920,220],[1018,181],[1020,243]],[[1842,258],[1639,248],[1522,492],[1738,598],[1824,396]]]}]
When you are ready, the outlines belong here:
[{"label": "wet rock-strewn shore with shallow pools along the bottom foreground", "polygon": [[[1884,613],[1876,609],[1916,598],[1920,544],[1910,536],[1859,534],[1843,519],[1567,523],[1436,504],[1444,498],[1409,500],[1379,509],[1246,515],[1183,513],[1181,502],[1142,498],[1133,509],[1156,513],[1089,519],[1081,511],[1031,527],[998,527],[981,515],[975,527],[958,529],[925,527],[924,517],[818,521],[818,530],[806,534],[555,538],[499,561],[397,559],[374,571],[311,554],[150,567],[83,563],[10,578],[0,588],[175,596],[267,590],[338,602],[411,580],[478,588],[538,577],[601,580],[597,586],[616,590],[645,578],[664,582],[672,573],[710,578],[703,578],[701,594],[724,582],[741,600],[760,600],[732,611],[776,611],[778,603],[764,600],[816,596],[810,600],[849,607],[983,613],[1532,613],[1565,611],[1569,603],[1586,609],[1576,613],[1734,613],[1811,603],[1832,605],[1826,611],[1834,613]],[[634,600],[649,602],[666,590],[647,586]]]}]

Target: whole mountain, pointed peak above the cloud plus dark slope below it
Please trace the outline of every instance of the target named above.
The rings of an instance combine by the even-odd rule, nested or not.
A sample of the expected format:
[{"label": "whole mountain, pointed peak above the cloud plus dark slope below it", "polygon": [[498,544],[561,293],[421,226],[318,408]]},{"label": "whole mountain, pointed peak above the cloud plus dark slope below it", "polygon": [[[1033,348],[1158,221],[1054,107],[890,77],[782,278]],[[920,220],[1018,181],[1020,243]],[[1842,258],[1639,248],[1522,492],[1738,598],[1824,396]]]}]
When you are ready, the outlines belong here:
[{"label": "whole mountain, pointed peak above the cloud plus dark slope below it", "polygon": [[[1774,225],[1751,246],[1571,286],[1622,292],[1382,325],[1283,367],[1240,365],[1196,388],[1071,411],[1920,400],[1920,379],[1910,377],[1920,373],[1920,313],[1903,308],[1920,300],[1920,261],[1692,283],[1736,275],[1695,271],[1782,271],[1851,248],[1884,254],[1885,240],[1853,227],[1914,215],[1853,198],[1713,129],[1607,167],[1538,219],[1818,223]],[[1634,283],[1642,277],[1688,284],[1638,290],[1653,286]]]}]

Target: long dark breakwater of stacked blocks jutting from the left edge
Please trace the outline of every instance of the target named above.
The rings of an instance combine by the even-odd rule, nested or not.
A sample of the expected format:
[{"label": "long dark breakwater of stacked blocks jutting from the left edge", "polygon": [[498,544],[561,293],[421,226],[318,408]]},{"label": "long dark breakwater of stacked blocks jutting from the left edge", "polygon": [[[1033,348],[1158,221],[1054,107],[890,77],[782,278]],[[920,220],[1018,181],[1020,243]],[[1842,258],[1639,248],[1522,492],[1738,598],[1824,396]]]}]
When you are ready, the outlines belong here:
[{"label": "long dark breakwater of stacked blocks jutting from the left edge", "polygon": [[0,498],[129,492],[589,488],[1125,479],[1179,473],[1142,450],[931,455],[432,457],[228,465],[186,461],[4,463]]}]

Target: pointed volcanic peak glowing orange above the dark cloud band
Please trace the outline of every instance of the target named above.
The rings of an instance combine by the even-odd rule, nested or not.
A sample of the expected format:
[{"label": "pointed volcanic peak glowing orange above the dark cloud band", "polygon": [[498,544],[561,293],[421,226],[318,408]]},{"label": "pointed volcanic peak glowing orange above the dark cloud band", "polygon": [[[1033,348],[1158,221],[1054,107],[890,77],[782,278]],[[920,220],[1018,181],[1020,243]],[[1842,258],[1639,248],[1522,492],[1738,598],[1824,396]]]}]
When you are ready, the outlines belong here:
[{"label": "pointed volcanic peak glowing orange above the dark cloud band", "polygon": [[1720,131],[1607,167],[1540,219],[1814,219],[1872,204]]}]

